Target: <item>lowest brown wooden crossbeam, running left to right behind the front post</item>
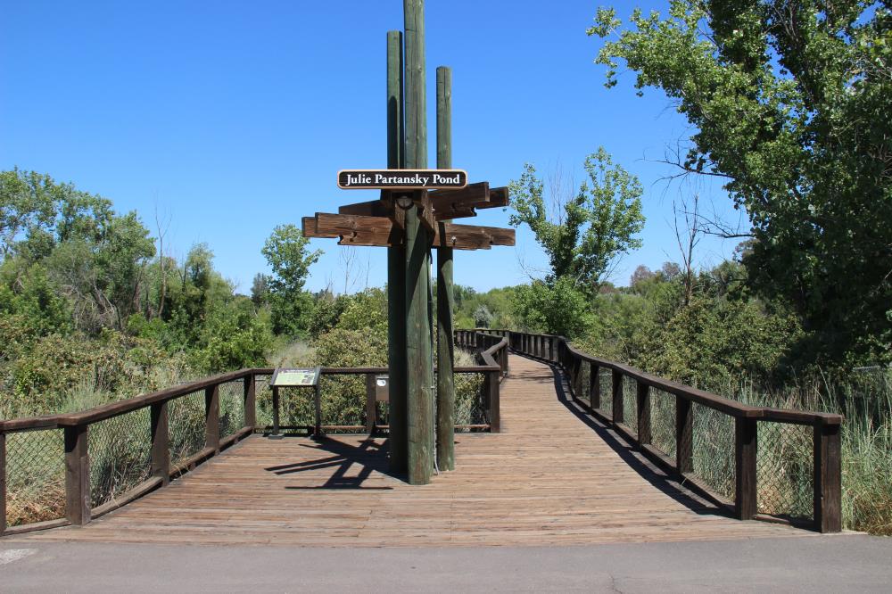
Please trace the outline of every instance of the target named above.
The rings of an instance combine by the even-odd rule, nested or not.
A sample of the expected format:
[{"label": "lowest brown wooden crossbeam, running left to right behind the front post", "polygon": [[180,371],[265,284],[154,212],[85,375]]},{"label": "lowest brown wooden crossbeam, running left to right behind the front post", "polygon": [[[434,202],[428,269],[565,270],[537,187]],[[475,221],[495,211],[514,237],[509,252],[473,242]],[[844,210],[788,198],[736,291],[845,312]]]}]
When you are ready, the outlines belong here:
[{"label": "lowest brown wooden crossbeam, running left to right behind the front post", "polygon": [[[402,229],[387,217],[318,212],[304,217],[305,237],[338,237],[341,245],[392,247],[403,242]],[[454,250],[489,250],[493,245],[514,245],[514,229],[438,223],[432,247]]]}]

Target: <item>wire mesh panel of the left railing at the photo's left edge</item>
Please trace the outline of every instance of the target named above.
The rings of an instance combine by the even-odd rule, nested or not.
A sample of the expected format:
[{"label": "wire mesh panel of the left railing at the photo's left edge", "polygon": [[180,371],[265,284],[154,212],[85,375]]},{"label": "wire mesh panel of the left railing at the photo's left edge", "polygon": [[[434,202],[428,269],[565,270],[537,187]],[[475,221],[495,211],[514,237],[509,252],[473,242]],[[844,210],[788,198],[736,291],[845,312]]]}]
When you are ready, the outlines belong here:
[{"label": "wire mesh panel of the left railing at the photo's left edge", "polygon": [[61,429],[6,434],[6,524],[65,516],[65,438]]}]

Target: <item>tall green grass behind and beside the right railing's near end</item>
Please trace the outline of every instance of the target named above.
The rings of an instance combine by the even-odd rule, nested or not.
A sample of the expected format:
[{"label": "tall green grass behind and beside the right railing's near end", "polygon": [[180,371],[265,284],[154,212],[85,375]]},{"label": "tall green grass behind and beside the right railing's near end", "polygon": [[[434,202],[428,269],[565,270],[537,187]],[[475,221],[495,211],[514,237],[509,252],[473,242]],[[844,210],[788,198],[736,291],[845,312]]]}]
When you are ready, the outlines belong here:
[{"label": "tall green grass behind and beside the right railing's near end", "polygon": [[[799,378],[781,388],[752,381],[712,386],[753,406],[842,414],[843,523],[847,529],[892,535],[892,369],[845,377]],[[652,423],[672,426],[672,407],[652,408]],[[695,408],[694,470],[714,491],[734,495],[733,424],[706,407]],[[811,428],[759,424],[759,511],[809,516],[812,506]]]}]

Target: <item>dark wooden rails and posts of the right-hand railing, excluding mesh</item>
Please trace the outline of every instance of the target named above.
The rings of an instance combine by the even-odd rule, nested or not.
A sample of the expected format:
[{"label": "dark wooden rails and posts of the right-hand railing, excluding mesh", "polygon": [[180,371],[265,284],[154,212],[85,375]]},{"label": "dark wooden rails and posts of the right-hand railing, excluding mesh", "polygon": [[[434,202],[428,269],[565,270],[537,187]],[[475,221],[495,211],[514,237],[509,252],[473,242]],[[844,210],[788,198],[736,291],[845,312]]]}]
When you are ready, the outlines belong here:
[{"label": "dark wooden rails and posts of the right-hand railing, excluding mesh", "polygon": [[[839,532],[842,529],[841,517],[841,460],[839,429],[844,417],[834,413],[787,410],[771,407],[755,407],[741,404],[713,394],[651,375],[635,367],[617,363],[608,359],[594,357],[579,351],[563,336],[553,334],[532,334],[512,332],[508,330],[484,330],[463,332],[488,332],[506,336],[511,350],[524,355],[544,359],[558,367],[562,367],[568,375],[571,396],[583,408],[612,425],[617,433],[640,450],[657,466],[663,467],[669,474],[689,485],[694,491],[716,504],[729,505],[727,499],[711,491],[694,476],[693,466],[693,408],[696,402],[706,408],[712,408],[734,418],[734,459],[735,459],[735,499],[730,504],[734,514],[741,519],[762,519],[758,511],[757,498],[757,432],[759,423],[783,423],[788,425],[811,425],[813,427],[813,467],[814,467],[814,505],[813,523],[820,532]],[[588,390],[589,403],[579,398],[583,390],[580,368],[582,361],[591,366]],[[612,371],[613,390],[611,394],[600,393],[597,380],[599,368]],[[626,425],[624,419],[624,396],[622,383],[624,377],[635,380],[638,392],[635,419],[637,431]],[[675,459],[668,458],[665,453],[654,447],[651,441],[651,406],[650,390],[656,388],[675,397]],[[612,400],[612,410],[607,413],[601,409],[605,397]],[[771,518],[776,520],[777,518]]]}]

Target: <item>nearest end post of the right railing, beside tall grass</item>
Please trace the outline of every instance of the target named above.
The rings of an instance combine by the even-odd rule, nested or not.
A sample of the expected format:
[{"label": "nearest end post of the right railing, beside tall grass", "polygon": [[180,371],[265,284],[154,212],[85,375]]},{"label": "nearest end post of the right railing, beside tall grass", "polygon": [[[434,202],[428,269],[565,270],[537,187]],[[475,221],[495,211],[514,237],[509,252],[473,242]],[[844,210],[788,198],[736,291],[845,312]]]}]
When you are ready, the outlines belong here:
[{"label": "nearest end post of the right railing, beside tall grass", "polygon": [[814,529],[842,530],[839,425],[814,425]]}]

